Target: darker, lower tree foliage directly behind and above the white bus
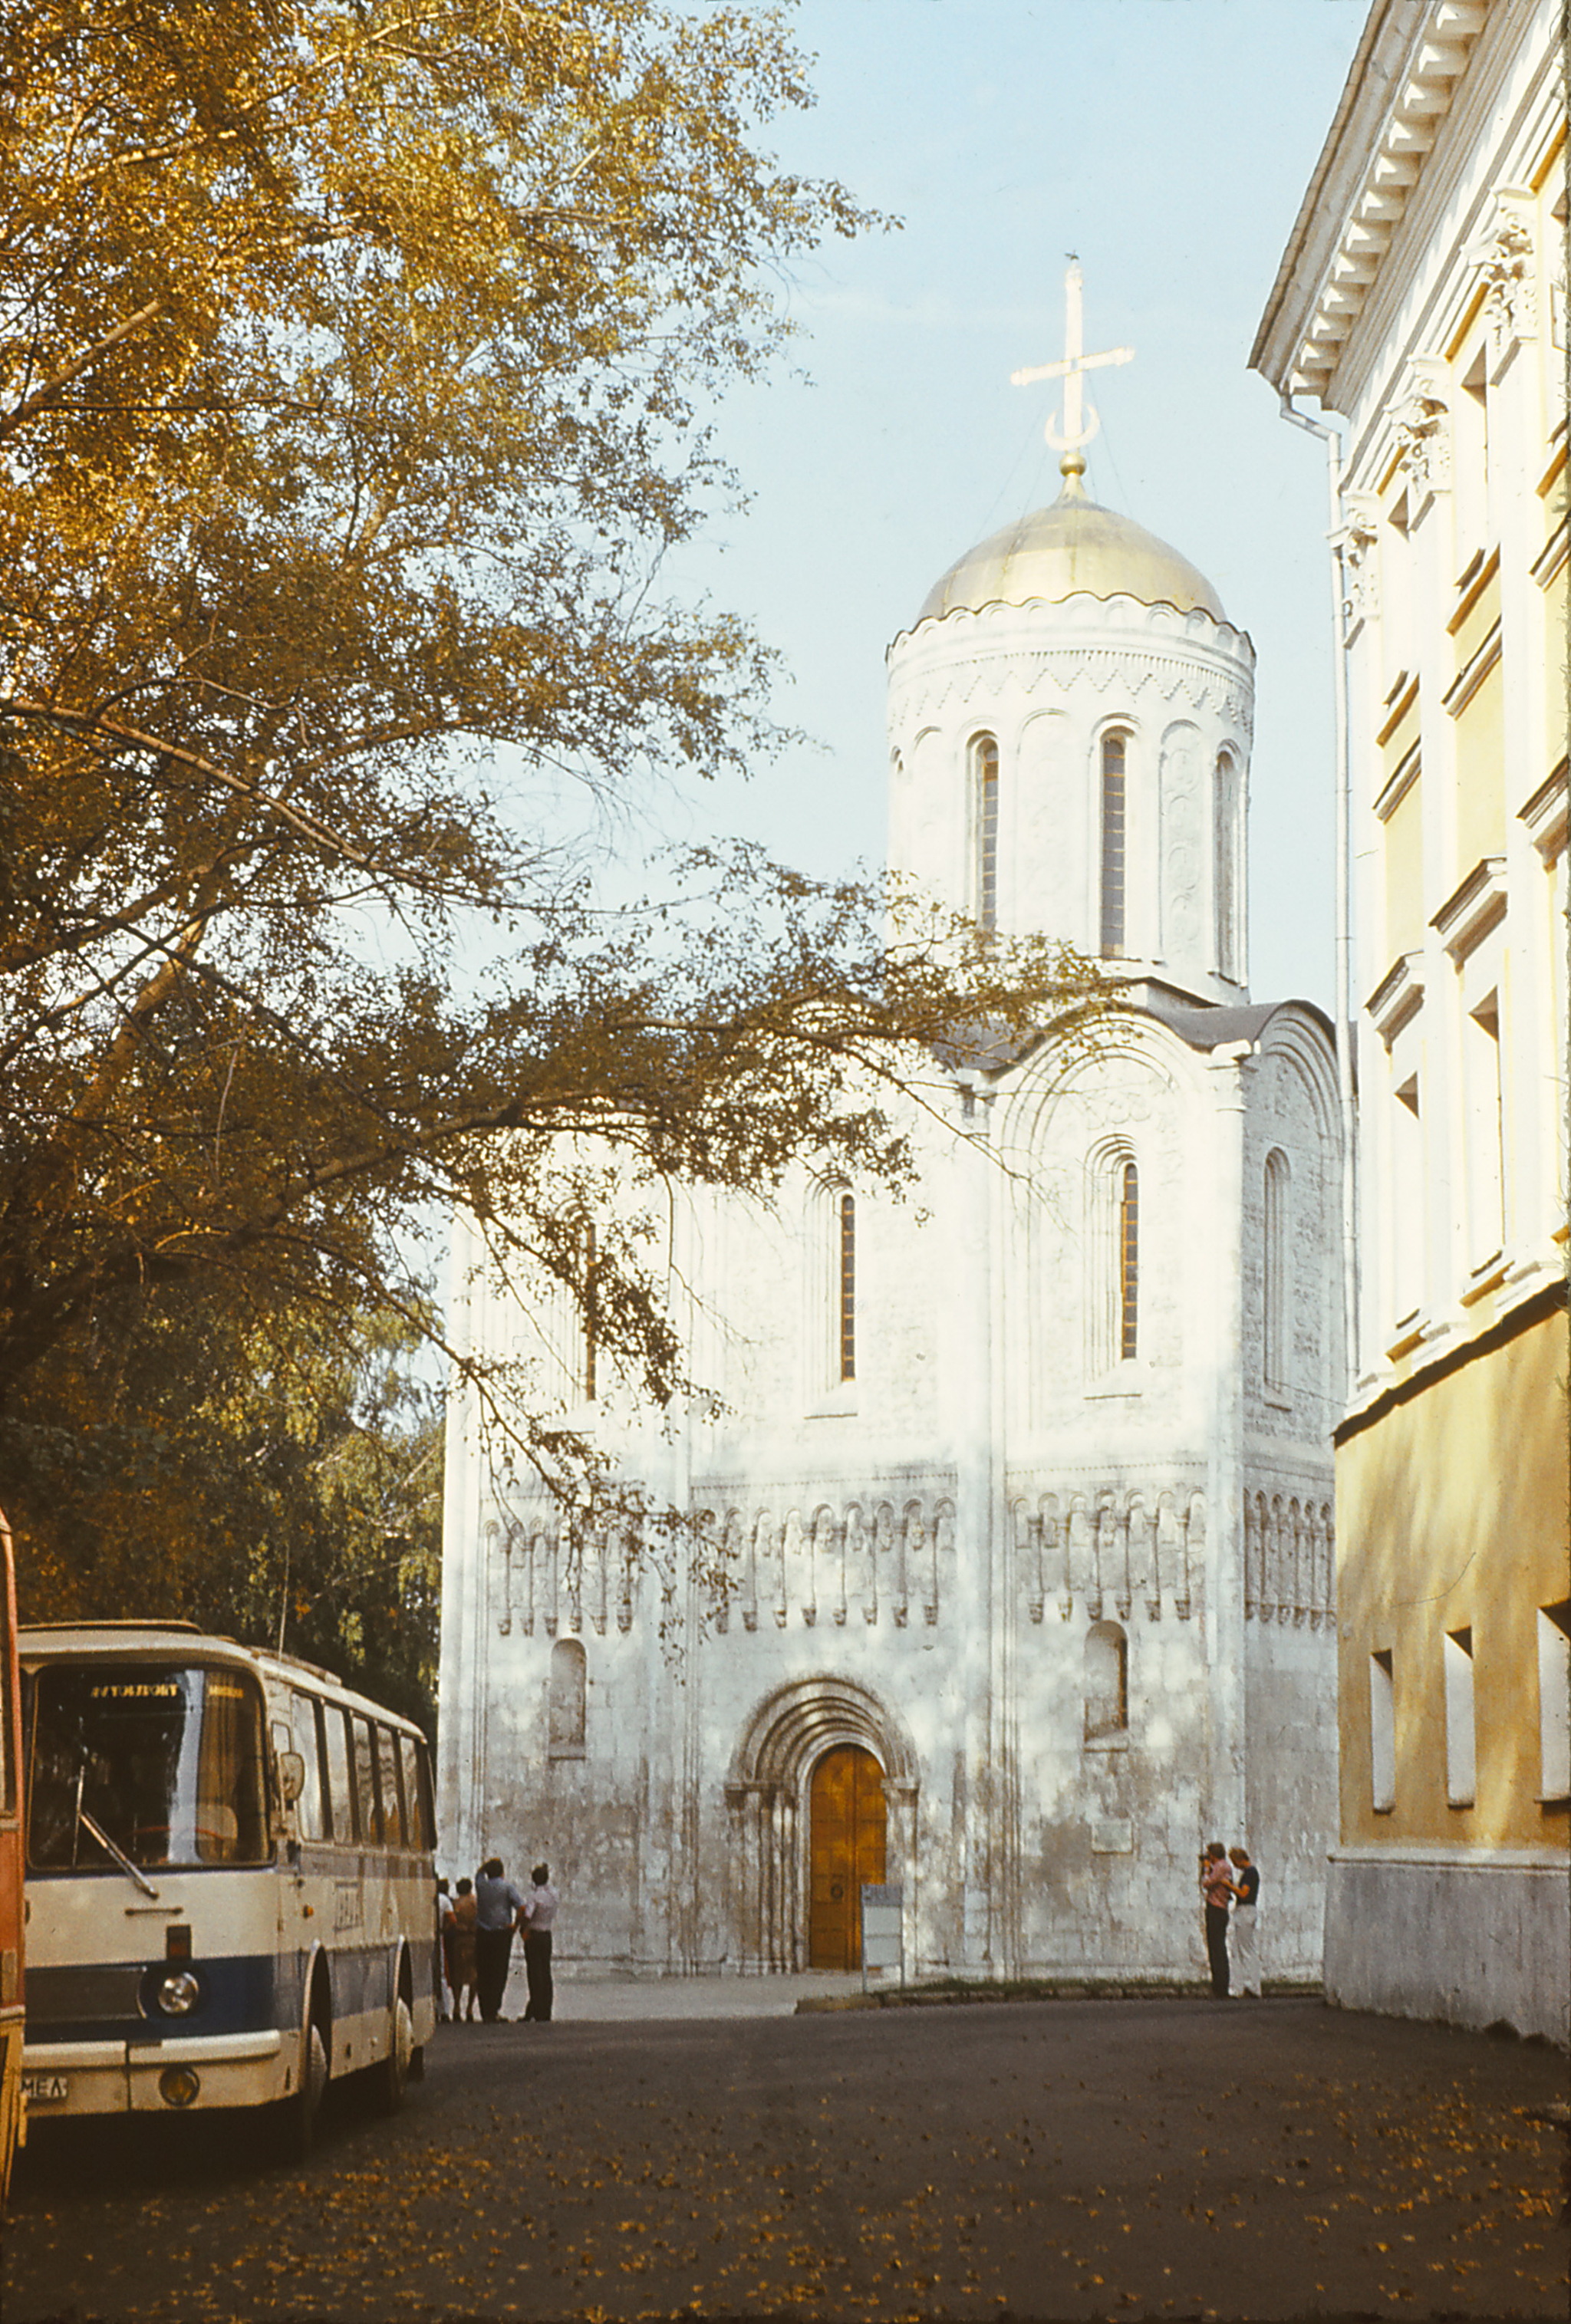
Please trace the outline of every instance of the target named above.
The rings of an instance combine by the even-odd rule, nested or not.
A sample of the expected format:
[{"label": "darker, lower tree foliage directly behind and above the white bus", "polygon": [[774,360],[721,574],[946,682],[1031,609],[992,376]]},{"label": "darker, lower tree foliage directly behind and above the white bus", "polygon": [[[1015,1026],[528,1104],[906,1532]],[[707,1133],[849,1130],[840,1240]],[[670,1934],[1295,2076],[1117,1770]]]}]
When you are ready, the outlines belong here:
[{"label": "darker, lower tree foliage directly behind and above the white bus", "polygon": [[188,1287],[40,1362],[0,1415],[21,1620],[193,1620],[430,1731],[442,1411],[395,1318],[242,1329]]}]

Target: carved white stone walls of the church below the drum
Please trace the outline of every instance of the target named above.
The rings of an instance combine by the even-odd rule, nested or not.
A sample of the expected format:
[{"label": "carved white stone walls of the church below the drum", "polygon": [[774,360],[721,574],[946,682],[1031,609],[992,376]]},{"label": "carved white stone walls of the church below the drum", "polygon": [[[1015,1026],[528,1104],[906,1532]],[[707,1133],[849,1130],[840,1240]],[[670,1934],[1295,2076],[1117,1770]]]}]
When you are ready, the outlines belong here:
[{"label": "carved white stone walls of the church below the drum", "polygon": [[[1276,1053],[1267,1037],[1246,1148],[1287,1141],[1304,1188],[1329,1204],[1329,1069],[1315,1039],[1308,1018]],[[799,1906],[811,1762],[772,1796],[762,1838],[762,1810],[751,1794],[730,1799],[727,1780],[760,1703],[851,1685],[874,1722],[851,1738],[865,1734],[885,1769],[892,1736],[911,1755],[892,1801],[892,1850],[904,1855],[890,1878],[906,1882],[913,1966],[1197,1975],[1195,1855],[1218,1831],[1243,1836],[1213,1715],[1218,1683],[1239,1676],[1269,1973],[1313,1968],[1334,1799],[1329,1471],[1320,1446],[1255,1432],[1246,1506],[1262,1520],[1229,1527],[1208,1508],[1218,1404],[1246,1401],[1239,1380],[1220,1378],[1220,1311],[1206,1297],[1220,1232],[1204,1162],[1215,1083],[1153,1020],[1062,1088],[1039,1062],[1016,1078],[995,1104],[1009,1125],[997,1162],[916,1118],[930,1155],[920,1192],[865,1204],[858,1380],[846,1390],[809,1362],[818,1322],[802,1278],[820,1269],[827,1299],[832,1243],[804,1192],[779,1215],[706,1197],[686,1232],[704,1353],[732,1404],[723,1422],[686,1434],[669,1469],[727,1550],[732,1587],[706,1622],[681,1548],[662,1552],[674,1578],[662,1599],[660,1573],[616,1532],[574,1545],[548,1506],[500,1508],[486,1494],[465,1520],[483,1618],[465,1629],[458,1615],[455,1545],[444,1701],[467,1685],[467,1641],[486,1673],[486,1780],[481,1808],[453,1817],[469,1778],[444,1727],[444,1808],[472,1831],[472,1852],[548,1857],[572,1899],[567,1957],[799,1964],[804,1913],[786,1927],[776,1910],[765,1929],[758,1896],[762,1882],[781,1910],[790,1894]],[[1141,1246],[1150,1353],[1113,1380],[1085,1362],[1083,1222],[1071,1208],[1109,1125],[1134,1141],[1153,1188]],[[971,1211],[967,1234],[951,1232],[946,1199]],[[999,1250],[997,1299],[981,1304],[964,1285],[964,1253],[988,1243],[978,1204],[997,1215]],[[1334,1341],[1329,1211],[1304,1241],[1320,1250],[1318,1274],[1299,1283],[1320,1350]],[[976,1383],[992,1367],[1004,1380],[978,1448]],[[1313,1411],[1306,1390],[1299,1420]],[[651,1452],[637,1432],[620,1446],[627,1464]],[[1218,1627],[1222,1557],[1239,1564],[1243,1631]],[[1125,1631],[1129,1724],[1088,1743],[1092,1622]],[[553,1750],[548,1734],[560,1638],[581,1641],[588,1662],[581,1750]]]}]

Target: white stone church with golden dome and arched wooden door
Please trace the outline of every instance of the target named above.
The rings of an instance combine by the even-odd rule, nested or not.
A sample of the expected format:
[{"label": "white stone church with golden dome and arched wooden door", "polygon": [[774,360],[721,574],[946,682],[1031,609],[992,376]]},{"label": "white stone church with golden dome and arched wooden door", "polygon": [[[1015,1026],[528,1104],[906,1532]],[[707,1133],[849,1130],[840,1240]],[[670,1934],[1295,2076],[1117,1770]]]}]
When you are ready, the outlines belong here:
[{"label": "white stone church with golden dome and arched wooden door", "polygon": [[[497,1492],[455,1399],[444,1864],[548,1857],[583,1968],[853,1968],[895,1882],[911,1973],[1195,1978],[1208,1838],[1262,1866],[1267,1975],[1320,1961],[1332,1039],[1248,992],[1253,646],[1069,444],[890,646],[890,855],[1099,955],[1116,1034],[934,1062],[902,1202],[681,1195],[718,1422],[618,1404],[546,1318],[569,1422],[727,1548],[706,1627]],[[458,1329],[532,1341],[455,1243]]]}]

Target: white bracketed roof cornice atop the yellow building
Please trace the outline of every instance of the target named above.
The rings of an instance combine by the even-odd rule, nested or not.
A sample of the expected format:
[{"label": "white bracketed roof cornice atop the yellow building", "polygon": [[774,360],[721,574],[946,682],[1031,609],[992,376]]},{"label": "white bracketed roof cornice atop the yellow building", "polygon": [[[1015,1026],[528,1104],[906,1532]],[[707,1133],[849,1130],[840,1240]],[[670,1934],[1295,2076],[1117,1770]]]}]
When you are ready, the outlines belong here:
[{"label": "white bracketed roof cornice atop the yellow building", "polygon": [[1278,393],[1332,402],[1341,351],[1487,16],[1490,0],[1376,0],[1250,349],[1250,370]]}]

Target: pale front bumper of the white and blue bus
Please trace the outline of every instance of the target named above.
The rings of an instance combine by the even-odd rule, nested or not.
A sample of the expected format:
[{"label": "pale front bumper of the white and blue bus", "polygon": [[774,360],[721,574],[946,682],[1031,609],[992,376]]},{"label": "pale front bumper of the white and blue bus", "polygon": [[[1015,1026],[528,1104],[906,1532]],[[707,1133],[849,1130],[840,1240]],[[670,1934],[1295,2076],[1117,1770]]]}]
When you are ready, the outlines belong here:
[{"label": "pale front bumper of the white and blue bus", "polygon": [[30,2122],[46,2122],[51,2115],[179,2115],[193,2106],[265,2106],[286,2094],[288,2080],[284,2036],[277,2029],[160,2043],[42,2040],[21,2052]]}]

